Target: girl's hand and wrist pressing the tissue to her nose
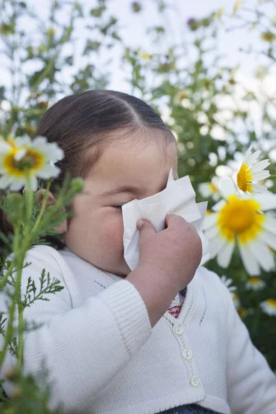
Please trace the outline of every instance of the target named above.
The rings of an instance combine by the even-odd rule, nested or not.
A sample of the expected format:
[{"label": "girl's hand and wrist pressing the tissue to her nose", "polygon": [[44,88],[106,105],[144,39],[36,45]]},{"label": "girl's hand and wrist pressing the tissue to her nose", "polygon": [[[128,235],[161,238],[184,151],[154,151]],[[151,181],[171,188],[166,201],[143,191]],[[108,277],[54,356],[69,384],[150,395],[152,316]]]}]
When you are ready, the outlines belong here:
[{"label": "girl's hand and wrist pressing the tissue to her nose", "polygon": [[143,219],[141,226],[138,221],[139,264],[126,277],[144,299],[152,326],[193,279],[202,257],[201,239],[193,224],[178,215],[167,215],[165,223],[165,230],[156,233],[148,221]]}]

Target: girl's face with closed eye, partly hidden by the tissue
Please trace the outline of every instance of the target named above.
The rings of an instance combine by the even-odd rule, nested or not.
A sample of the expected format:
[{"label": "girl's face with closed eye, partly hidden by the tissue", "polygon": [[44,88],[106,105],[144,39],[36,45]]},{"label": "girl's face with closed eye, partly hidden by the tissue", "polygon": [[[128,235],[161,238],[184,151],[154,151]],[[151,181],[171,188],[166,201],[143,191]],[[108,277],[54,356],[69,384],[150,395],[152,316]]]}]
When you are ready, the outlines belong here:
[{"label": "girl's face with closed eye, partly hidden by the tissue", "polygon": [[75,198],[75,216],[63,237],[68,248],[102,270],[127,276],[121,205],[164,190],[171,167],[177,179],[175,142],[163,151],[154,138],[106,147],[84,180],[85,194]]}]

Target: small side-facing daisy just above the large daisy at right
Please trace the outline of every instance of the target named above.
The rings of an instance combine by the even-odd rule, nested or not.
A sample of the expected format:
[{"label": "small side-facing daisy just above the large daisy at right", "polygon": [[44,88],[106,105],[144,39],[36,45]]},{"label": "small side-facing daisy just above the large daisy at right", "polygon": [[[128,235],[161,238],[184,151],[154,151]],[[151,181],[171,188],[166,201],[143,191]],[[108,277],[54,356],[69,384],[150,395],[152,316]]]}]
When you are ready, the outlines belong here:
[{"label": "small side-facing daisy just above the large daisy at right", "polygon": [[257,150],[252,153],[253,145],[250,145],[244,156],[242,166],[237,173],[237,186],[244,193],[266,193],[267,188],[255,184],[255,181],[266,179],[270,176],[270,172],[265,170],[270,165],[269,159],[264,159],[255,163],[262,151]]}]

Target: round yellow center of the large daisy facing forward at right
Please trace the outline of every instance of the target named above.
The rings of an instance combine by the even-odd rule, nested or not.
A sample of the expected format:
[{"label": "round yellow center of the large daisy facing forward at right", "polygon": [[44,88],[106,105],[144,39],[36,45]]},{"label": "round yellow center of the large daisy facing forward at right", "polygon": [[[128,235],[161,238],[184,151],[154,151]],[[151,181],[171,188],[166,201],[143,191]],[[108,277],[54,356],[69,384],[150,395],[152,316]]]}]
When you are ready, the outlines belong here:
[{"label": "round yellow center of the large daisy facing forward at right", "polygon": [[261,207],[253,199],[239,199],[235,195],[228,197],[227,201],[218,215],[217,224],[221,235],[230,242],[237,236],[240,243],[247,244],[262,231],[264,215],[257,212]]}]

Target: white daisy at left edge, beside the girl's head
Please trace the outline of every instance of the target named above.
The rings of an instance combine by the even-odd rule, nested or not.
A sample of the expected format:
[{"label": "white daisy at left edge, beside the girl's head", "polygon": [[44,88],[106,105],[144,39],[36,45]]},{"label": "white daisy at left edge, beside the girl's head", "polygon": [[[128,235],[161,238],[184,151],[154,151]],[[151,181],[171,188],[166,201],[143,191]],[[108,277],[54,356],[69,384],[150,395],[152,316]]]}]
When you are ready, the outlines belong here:
[{"label": "white daisy at left edge, beside the girl's head", "polygon": [[18,137],[0,139],[0,188],[19,191],[28,186],[37,190],[37,177],[48,179],[59,175],[55,162],[63,158],[63,150],[55,142],[48,143],[45,137]]}]

